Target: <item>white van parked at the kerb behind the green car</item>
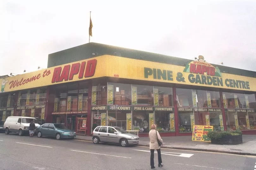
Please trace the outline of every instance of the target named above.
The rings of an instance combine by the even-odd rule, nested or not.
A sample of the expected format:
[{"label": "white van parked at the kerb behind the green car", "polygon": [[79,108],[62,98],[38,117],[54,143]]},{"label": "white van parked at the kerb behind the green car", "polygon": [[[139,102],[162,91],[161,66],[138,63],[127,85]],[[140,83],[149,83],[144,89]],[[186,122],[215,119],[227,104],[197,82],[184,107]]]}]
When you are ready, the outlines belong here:
[{"label": "white van parked at the kerb behind the green car", "polygon": [[[33,120],[35,120],[34,117],[9,116],[3,124],[5,134],[9,134],[9,132],[19,132],[19,135],[22,136],[28,133],[29,124]],[[35,126],[37,128],[40,125],[35,123]]]}]

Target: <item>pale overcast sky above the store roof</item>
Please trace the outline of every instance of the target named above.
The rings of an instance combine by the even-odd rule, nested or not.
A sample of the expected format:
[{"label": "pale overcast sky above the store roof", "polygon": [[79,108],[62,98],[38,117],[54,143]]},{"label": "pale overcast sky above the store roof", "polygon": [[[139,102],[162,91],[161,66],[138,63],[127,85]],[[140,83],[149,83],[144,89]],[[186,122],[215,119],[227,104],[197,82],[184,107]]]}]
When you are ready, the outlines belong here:
[{"label": "pale overcast sky above the store roof", "polygon": [[1,1],[0,75],[91,42],[256,71],[256,1]]}]

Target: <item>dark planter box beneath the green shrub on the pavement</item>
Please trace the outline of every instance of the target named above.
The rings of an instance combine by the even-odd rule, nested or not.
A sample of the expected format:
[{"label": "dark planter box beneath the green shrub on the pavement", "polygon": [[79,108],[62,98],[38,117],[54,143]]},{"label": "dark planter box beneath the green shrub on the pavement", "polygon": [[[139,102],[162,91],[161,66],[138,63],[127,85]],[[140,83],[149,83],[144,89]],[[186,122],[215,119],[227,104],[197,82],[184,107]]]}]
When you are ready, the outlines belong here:
[{"label": "dark planter box beneath the green shrub on the pavement", "polygon": [[212,144],[236,145],[243,143],[242,135],[227,135],[220,140],[211,139]]}]

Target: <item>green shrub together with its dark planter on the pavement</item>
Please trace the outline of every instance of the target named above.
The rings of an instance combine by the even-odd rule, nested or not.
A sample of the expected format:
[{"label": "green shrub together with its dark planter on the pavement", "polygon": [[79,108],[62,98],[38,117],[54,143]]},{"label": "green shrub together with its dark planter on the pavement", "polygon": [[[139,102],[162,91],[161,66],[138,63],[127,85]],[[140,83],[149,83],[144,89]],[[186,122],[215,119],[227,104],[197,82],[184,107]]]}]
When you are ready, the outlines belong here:
[{"label": "green shrub together with its dark planter on the pavement", "polygon": [[242,132],[237,131],[211,131],[207,136],[213,144],[241,144]]}]

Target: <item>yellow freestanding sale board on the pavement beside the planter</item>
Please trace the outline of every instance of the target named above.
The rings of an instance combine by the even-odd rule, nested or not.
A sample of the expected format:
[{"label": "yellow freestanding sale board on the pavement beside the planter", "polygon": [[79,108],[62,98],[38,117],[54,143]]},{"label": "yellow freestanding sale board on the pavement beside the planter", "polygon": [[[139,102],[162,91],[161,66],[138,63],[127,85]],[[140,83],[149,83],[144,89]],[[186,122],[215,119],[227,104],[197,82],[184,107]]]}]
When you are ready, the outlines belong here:
[{"label": "yellow freestanding sale board on the pavement beside the planter", "polygon": [[207,125],[194,125],[192,133],[192,141],[210,142],[207,137],[208,132],[213,131],[213,126]]}]

